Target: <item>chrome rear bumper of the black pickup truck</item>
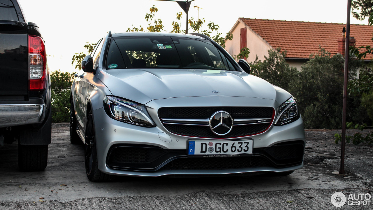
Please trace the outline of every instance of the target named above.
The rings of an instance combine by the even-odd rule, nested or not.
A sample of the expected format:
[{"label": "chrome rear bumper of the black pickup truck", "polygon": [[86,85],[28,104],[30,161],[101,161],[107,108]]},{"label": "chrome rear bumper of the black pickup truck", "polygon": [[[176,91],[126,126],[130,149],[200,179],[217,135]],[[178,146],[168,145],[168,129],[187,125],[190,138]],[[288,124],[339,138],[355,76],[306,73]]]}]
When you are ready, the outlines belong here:
[{"label": "chrome rear bumper of the black pickup truck", "polygon": [[0,104],[0,127],[40,123],[45,109],[45,104]]}]

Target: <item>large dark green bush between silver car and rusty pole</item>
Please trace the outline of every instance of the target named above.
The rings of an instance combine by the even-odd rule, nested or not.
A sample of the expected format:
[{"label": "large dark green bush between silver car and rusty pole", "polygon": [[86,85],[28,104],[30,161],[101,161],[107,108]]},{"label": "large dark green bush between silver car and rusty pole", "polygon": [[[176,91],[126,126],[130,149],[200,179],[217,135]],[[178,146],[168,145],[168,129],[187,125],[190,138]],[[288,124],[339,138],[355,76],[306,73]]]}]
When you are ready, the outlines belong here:
[{"label": "large dark green bush between silver car and rusty pole", "polygon": [[[355,79],[360,66],[360,61],[350,59],[350,80]],[[343,80],[344,57],[341,54],[331,56],[325,49],[320,49],[319,53],[311,55],[310,60],[302,65],[299,80],[294,81],[293,87],[299,106],[303,108],[301,113],[306,128],[342,127]],[[355,98],[350,99],[350,102],[354,101]],[[348,109],[350,114],[355,111]]]}]

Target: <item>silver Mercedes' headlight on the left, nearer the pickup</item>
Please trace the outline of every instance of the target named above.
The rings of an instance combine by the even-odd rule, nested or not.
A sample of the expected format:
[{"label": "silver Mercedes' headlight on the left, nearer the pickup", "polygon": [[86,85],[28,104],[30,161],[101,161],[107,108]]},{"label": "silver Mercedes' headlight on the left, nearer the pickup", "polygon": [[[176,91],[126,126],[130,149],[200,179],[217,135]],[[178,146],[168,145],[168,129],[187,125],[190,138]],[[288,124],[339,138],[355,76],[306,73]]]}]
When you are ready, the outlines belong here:
[{"label": "silver Mercedes' headlight on the left, nearer the pickup", "polygon": [[156,126],[146,111],[146,107],[132,101],[105,96],[104,109],[109,117],[118,121],[144,127]]}]

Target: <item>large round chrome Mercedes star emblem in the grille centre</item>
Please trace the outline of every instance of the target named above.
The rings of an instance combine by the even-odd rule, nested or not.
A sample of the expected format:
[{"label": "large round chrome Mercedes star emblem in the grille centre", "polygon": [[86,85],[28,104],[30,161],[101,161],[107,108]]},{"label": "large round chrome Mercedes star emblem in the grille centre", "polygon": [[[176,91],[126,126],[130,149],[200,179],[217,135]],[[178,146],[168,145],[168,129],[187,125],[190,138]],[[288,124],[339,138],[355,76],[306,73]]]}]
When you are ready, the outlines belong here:
[{"label": "large round chrome Mercedes star emblem in the grille centre", "polygon": [[217,111],[210,117],[210,129],[218,135],[224,136],[231,132],[233,128],[232,116],[226,111]]}]

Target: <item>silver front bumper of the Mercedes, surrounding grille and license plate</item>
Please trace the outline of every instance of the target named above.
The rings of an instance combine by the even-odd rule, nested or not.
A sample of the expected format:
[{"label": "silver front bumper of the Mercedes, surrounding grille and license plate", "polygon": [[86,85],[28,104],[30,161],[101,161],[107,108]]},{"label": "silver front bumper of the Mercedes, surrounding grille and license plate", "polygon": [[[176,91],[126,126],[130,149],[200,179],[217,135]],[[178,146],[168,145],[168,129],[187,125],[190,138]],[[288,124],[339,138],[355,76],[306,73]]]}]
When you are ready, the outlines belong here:
[{"label": "silver front bumper of the Mercedes, surrounding grille and license plate", "polygon": [[[110,175],[123,175],[123,176],[164,176],[164,175],[228,175],[237,173],[248,173],[248,172],[286,172],[301,169],[303,167],[303,153],[304,153],[304,127],[302,118],[297,121],[284,125],[284,126],[270,126],[270,128],[264,132],[257,135],[252,135],[248,137],[240,138],[229,138],[226,140],[239,140],[239,139],[253,139],[254,154],[242,158],[245,164],[238,166],[237,168],[229,167],[229,163],[216,164],[218,167],[173,167],[170,164],[178,162],[179,166],[185,164],[190,164],[194,160],[204,162],[204,159],[210,161],[215,158],[192,158],[186,155],[187,141],[188,140],[205,140],[202,138],[180,136],[168,132],[159,118],[157,117],[157,109],[159,107],[175,105],[173,100],[177,100],[178,103],[184,106],[195,106],[199,104],[202,106],[213,106],[219,104],[220,106],[229,106],[232,100],[228,98],[233,97],[219,97],[219,102],[214,100],[206,100],[206,97],[195,97],[191,99],[160,99],[154,100],[148,105],[148,111],[151,115],[154,123],[157,127],[140,127],[132,124],[122,123],[120,121],[114,120],[107,116],[103,108],[96,109],[93,111],[93,117],[95,122],[95,135],[97,143],[97,155],[98,155],[98,169],[102,172]],[[236,106],[247,105],[247,98],[234,97],[234,104]],[[211,99],[211,98],[209,98]],[[215,98],[214,98],[215,99]],[[216,98],[217,99],[217,98]],[[183,101],[185,100],[185,101]],[[272,103],[272,104],[271,104]],[[166,105],[167,104],[167,105]],[[267,99],[256,99],[251,101],[253,106],[272,106],[277,107],[273,100]],[[176,105],[175,105],[176,106]],[[151,108],[149,108],[151,107]],[[211,141],[221,140],[221,139],[209,139]],[[266,148],[271,146],[276,146],[278,144],[286,144],[287,142],[300,142],[302,148],[300,149],[301,154],[298,155],[296,161],[291,161],[288,163],[281,163],[279,161],[273,160],[271,155],[261,152]],[[164,156],[164,160],[158,160],[159,163],[151,163],[143,166],[128,166],[128,164],[113,164],[111,161],[111,152],[113,148],[117,146],[136,146],[136,145],[148,145],[149,147],[163,149],[164,151],[172,153],[169,156]],[[269,157],[270,156],[270,157]],[[162,159],[161,158],[161,159]],[[234,158],[234,157],[233,157]],[[260,159],[261,158],[261,159]],[[229,159],[229,158],[228,158]],[[219,161],[232,161],[216,158]],[[259,160],[260,159],[260,160]],[[238,159],[235,159],[238,160]],[[208,162],[206,161],[206,162]],[[241,159],[240,159],[241,161]],[[264,163],[261,161],[266,161],[265,164],[256,164],[255,161]],[[124,161],[125,162],[125,161]],[[214,162],[214,161],[212,161]],[[211,162],[211,164],[213,164]],[[131,165],[131,164],[130,164]],[[221,166],[221,167],[220,167]]]}]

